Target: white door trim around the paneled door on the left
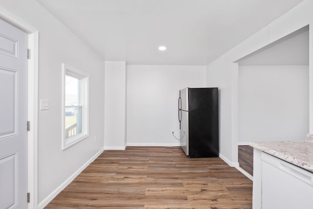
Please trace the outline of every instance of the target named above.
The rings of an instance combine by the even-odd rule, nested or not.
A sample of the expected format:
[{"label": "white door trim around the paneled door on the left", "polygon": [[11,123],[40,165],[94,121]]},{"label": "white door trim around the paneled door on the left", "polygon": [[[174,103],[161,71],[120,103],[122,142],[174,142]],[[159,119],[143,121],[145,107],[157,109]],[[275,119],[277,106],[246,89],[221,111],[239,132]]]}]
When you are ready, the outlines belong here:
[{"label": "white door trim around the paneled door on the left", "polygon": [[[27,189],[30,195],[28,209],[36,209],[38,202],[38,46],[39,33],[32,26],[22,22],[14,15],[0,9],[0,19],[14,25],[28,34],[28,48],[31,51],[28,59],[27,78],[27,120],[31,129],[27,133]],[[26,194],[25,194],[26,195]]]}]

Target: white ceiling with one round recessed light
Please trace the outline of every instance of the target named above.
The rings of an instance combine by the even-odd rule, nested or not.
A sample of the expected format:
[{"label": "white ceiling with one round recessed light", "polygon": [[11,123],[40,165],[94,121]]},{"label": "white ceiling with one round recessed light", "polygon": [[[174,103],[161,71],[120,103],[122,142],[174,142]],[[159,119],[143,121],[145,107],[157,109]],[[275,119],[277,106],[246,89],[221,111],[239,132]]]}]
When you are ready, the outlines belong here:
[{"label": "white ceiling with one round recessed light", "polygon": [[207,65],[303,0],[38,1],[104,60]]}]

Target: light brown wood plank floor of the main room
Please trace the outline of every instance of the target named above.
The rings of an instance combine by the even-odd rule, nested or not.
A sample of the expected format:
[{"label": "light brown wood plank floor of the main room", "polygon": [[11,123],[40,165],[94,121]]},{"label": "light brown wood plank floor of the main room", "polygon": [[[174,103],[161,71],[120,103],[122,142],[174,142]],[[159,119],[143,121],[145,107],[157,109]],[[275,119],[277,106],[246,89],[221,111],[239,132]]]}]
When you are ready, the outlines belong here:
[{"label": "light brown wood plank floor of the main room", "polygon": [[46,209],[251,209],[252,181],[179,147],[104,151]]}]

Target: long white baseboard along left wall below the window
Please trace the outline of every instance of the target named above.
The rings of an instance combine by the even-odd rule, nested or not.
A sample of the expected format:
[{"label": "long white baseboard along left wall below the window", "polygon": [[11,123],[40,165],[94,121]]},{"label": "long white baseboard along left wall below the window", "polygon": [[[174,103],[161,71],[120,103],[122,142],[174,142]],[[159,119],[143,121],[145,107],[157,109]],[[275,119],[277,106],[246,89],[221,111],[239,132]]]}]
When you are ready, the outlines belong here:
[{"label": "long white baseboard along left wall below the window", "polygon": [[90,163],[92,163],[102,152],[104,148],[99,150],[94,156],[92,156],[89,161],[83,164],[76,172],[74,172],[70,177],[67,178],[60,186],[58,186],[54,191],[52,191],[43,201],[38,204],[38,209],[45,208],[48,203],[53,200],[67,185],[69,185]]}]

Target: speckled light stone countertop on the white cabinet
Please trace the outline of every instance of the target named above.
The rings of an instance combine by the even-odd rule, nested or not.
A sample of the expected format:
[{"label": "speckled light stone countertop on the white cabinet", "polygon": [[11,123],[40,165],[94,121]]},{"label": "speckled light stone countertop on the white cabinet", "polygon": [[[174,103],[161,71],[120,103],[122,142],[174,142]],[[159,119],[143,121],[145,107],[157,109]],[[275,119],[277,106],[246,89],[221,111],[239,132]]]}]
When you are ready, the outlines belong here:
[{"label": "speckled light stone countertop on the white cabinet", "polygon": [[258,141],[249,145],[313,172],[313,141]]}]

